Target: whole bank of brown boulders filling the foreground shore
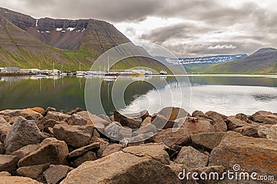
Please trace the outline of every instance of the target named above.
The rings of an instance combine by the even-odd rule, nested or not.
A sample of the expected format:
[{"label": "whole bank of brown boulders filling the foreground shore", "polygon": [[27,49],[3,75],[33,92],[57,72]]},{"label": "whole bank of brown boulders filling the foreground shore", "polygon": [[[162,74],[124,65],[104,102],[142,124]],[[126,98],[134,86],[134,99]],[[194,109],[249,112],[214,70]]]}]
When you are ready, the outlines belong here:
[{"label": "whole bank of brown boulders filling the foreground shore", "polygon": [[267,111],[229,117],[171,107],[111,117],[52,107],[0,111],[0,183],[265,183],[199,175],[221,178],[235,169],[277,178],[276,124],[276,113]]}]

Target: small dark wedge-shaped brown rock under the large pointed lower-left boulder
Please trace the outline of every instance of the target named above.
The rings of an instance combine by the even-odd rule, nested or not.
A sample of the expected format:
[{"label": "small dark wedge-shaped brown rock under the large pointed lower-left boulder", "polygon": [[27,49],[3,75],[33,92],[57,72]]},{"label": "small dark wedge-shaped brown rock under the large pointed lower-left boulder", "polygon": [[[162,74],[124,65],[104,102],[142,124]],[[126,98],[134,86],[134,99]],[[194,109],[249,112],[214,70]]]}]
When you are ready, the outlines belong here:
[{"label": "small dark wedge-shaped brown rock under the large pointed lower-left boulder", "polygon": [[48,169],[48,167],[49,164],[20,167],[19,169],[17,169],[17,175],[33,179],[39,179],[42,177],[42,173],[46,169]]}]

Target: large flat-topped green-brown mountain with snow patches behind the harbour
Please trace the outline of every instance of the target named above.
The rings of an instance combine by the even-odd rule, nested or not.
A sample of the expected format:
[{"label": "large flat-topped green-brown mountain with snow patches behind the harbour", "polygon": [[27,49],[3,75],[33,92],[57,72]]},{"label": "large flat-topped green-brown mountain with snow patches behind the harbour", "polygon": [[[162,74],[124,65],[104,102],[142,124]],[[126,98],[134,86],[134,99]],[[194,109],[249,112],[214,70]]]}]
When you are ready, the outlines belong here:
[{"label": "large flat-topped green-brown mountain with snow patches behind the harbour", "polygon": [[[0,8],[0,67],[55,68],[64,70],[89,70],[93,62],[105,51],[130,42],[113,25],[95,19],[34,19],[28,15]],[[149,55],[136,48],[135,52]],[[131,50],[118,50],[128,53]],[[134,50],[132,50],[134,52]],[[149,55],[150,56],[150,55]],[[162,64],[152,59],[125,59],[120,68],[129,66],[154,66]]]}]

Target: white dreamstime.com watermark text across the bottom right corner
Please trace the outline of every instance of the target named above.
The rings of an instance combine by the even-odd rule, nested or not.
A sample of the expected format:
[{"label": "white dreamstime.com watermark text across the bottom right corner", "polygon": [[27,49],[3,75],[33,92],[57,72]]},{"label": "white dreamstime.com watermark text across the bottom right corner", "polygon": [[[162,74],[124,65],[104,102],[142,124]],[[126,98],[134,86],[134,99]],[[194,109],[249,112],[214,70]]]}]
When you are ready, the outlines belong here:
[{"label": "white dreamstime.com watermark text across the bottom right corner", "polygon": [[235,181],[274,181],[274,176],[261,176],[256,172],[240,172],[240,165],[234,165],[233,171],[228,170],[222,174],[218,172],[186,172],[186,169],[184,169],[183,172],[179,172],[178,178],[180,180],[193,179],[195,181],[222,181],[224,179]]}]

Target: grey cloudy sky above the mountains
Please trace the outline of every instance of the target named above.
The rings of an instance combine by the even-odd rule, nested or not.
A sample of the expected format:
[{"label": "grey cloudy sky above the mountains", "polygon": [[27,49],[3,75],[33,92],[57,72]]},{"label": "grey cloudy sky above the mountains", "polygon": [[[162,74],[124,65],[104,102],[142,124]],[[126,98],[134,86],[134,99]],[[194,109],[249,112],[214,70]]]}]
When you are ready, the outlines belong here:
[{"label": "grey cloudy sky above the mountains", "polygon": [[154,42],[178,57],[277,47],[276,0],[8,0],[0,6],[35,18],[109,21],[133,42]]}]

